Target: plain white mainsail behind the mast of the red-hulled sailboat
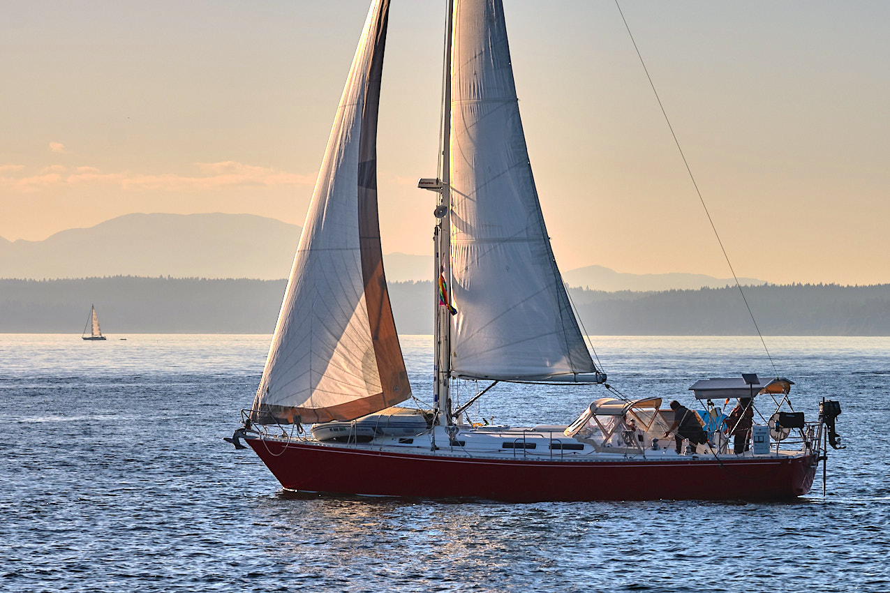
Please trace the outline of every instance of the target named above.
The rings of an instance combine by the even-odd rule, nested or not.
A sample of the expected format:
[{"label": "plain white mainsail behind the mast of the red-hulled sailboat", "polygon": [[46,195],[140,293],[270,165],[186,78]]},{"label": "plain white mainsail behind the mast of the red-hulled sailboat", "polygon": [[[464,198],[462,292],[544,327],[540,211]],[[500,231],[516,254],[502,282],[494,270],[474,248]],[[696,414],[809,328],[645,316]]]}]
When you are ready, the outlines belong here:
[{"label": "plain white mainsail behind the mast of the red-hulled sailboat", "polygon": [[455,3],[451,92],[452,375],[595,372],[538,203],[501,0]]}]

